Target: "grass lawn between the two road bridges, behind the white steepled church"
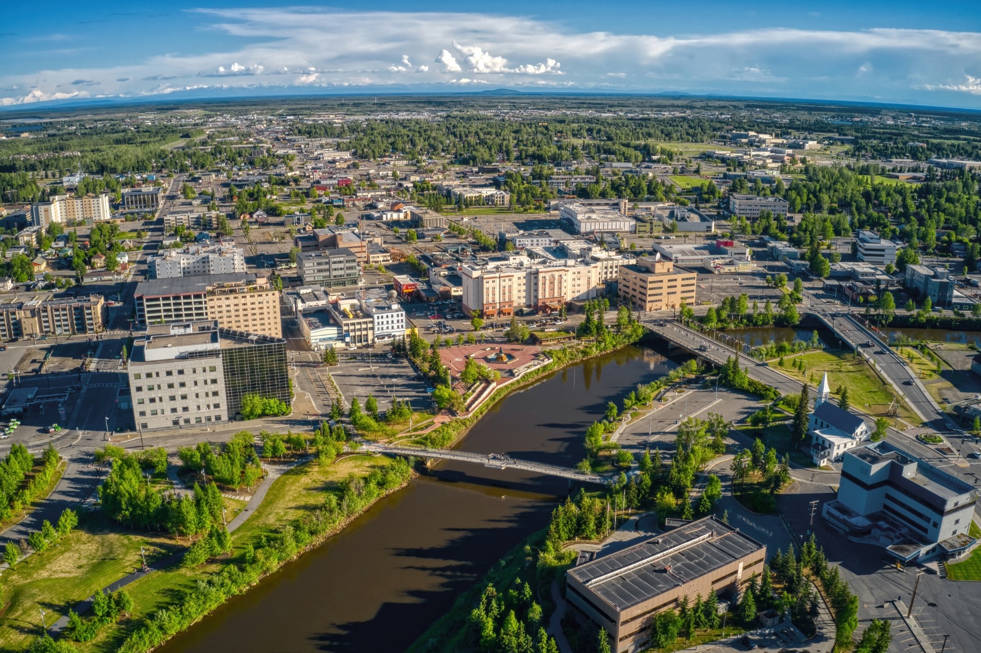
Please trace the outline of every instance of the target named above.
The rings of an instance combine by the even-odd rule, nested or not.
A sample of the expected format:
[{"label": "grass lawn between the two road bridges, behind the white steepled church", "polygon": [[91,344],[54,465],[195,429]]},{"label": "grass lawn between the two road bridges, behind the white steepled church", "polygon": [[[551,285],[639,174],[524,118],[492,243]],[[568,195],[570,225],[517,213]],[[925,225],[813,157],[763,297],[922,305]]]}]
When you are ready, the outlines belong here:
[{"label": "grass lawn between the two road bridges, behind the white steepled church", "polygon": [[[849,388],[852,406],[869,415],[885,415],[896,396],[893,387],[884,383],[864,360],[856,357],[852,352],[814,351],[796,356],[795,359],[804,362],[806,366],[804,374],[794,368],[790,361],[785,361],[784,367],[780,369],[790,377],[810,383],[812,406],[814,390],[825,372],[828,373],[832,392],[841,385]],[[776,363],[770,363],[770,366],[779,367]],[[920,419],[904,401],[900,400],[899,405],[901,418],[910,424],[920,424]]]}]

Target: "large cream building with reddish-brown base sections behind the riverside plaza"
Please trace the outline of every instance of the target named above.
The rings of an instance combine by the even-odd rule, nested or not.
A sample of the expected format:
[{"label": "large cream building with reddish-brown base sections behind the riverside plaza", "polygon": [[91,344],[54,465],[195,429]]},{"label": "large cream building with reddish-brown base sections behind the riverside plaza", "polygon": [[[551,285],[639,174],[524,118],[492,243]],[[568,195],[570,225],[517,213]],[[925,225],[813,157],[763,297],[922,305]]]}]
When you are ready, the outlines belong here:
[{"label": "large cream building with reddish-brown base sections behind the riverside plaza", "polygon": [[527,257],[460,268],[463,310],[485,318],[510,317],[518,309],[543,313],[573,300],[593,299],[600,265],[588,260],[532,262]]}]

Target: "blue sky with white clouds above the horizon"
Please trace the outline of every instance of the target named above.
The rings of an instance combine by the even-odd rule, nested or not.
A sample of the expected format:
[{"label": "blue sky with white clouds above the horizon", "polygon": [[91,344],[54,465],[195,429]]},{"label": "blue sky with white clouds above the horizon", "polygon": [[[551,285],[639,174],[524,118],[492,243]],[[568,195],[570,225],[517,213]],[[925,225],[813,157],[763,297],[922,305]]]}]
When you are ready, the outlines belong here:
[{"label": "blue sky with white clouds above the horizon", "polygon": [[981,109],[981,2],[7,0],[0,106],[511,88]]}]

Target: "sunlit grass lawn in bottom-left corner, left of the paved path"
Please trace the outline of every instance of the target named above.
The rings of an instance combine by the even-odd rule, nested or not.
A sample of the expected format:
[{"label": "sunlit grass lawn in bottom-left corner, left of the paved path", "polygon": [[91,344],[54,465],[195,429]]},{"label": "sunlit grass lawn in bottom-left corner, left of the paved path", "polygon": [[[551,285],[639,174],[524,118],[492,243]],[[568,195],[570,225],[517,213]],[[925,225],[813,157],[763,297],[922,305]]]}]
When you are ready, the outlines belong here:
[{"label": "sunlit grass lawn in bottom-left corner, left of the paved path", "polygon": [[4,572],[0,649],[25,648],[40,632],[40,609],[50,625],[96,589],[138,568],[140,546],[151,565],[181,548],[171,537],[123,529],[102,513],[91,513],[57,546]]}]

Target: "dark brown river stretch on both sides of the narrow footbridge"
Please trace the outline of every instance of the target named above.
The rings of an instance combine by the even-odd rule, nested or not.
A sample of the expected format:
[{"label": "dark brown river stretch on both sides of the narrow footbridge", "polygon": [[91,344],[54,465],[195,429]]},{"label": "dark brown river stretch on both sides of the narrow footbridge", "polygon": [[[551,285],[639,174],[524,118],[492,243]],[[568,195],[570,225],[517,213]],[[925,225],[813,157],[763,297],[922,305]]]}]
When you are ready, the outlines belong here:
[{"label": "dark brown river stretch on both sides of the narrow footbridge", "polygon": [[[586,428],[674,364],[627,347],[499,401],[458,448],[574,466]],[[444,462],[175,636],[168,653],[400,651],[529,533],[567,481]]]}]

